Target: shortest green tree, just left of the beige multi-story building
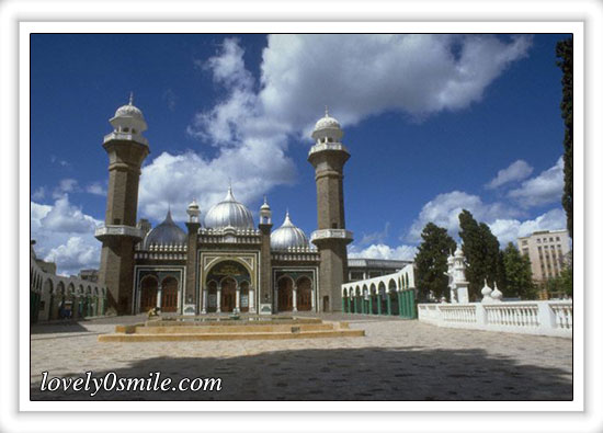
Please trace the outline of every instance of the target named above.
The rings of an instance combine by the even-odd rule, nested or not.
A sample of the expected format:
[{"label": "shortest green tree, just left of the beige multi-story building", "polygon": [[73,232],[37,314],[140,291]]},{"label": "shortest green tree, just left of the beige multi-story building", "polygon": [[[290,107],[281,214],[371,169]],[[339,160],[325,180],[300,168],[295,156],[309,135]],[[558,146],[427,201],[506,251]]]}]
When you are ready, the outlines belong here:
[{"label": "shortest green tree, just left of the beige multi-story building", "polygon": [[536,286],[532,280],[532,265],[530,257],[523,255],[520,250],[509,242],[502,251],[504,273],[507,275],[507,287],[504,295],[509,297],[521,297],[522,299],[535,299],[537,297]]}]

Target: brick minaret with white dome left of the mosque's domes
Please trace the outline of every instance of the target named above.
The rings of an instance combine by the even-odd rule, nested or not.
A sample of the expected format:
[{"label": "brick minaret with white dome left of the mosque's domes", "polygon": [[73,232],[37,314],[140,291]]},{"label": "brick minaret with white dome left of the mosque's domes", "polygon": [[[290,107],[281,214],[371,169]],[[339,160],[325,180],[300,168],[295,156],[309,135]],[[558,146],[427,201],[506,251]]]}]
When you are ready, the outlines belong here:
[{"label": "brick minaret with white dome left of the mosque's domes", "polygon": [[109,306],[118,315],[129,315],[134,312],[134,246],[144,237],[136,227],[136,210],[140,166],[149,155],[148,141],[141,135],[147,123],[134,106],[132,94],[110,123],[113,132],[103,139],[109,155],[105,225],[94,235],[103,242],[100,280],[109,289]]}]

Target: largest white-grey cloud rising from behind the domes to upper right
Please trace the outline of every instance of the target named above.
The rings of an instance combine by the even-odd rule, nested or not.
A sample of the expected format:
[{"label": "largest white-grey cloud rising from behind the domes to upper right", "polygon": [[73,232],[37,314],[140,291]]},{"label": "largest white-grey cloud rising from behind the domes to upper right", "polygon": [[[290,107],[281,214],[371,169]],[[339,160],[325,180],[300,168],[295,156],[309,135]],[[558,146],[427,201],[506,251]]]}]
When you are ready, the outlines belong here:
[{"label": "largest white-grey cloud rising from behind the domes to upper right", "polygon": [[192,197],[202,207],[221,198],[227,178],[243,203],[294,182],[288,141],[310,144],[326,104],[344,126],[386,111],[424,118],[467,107],[531,43],[492,35],[270,35],[257,80],[238,41],[226,38],[215,56],[195,60],[225,96],[187,127],[217,151],[149,161],[140,181],[143,214],[160,219],[171,203],[184,218]]}]

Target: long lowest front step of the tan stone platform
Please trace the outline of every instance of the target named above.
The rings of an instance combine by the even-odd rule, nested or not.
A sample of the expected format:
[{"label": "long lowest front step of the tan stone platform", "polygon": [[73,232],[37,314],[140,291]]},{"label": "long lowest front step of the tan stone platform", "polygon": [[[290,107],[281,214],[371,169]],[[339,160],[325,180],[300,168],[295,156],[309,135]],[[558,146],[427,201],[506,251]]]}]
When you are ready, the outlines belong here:
[{"label": "long lowest front step of the tan stone platform", "polygon": [[99,335],[100,342],[171,342],[216,340],[288,340],[364,337],[362,329],[305,332],[232,332],[232,333],[112,333]]}]

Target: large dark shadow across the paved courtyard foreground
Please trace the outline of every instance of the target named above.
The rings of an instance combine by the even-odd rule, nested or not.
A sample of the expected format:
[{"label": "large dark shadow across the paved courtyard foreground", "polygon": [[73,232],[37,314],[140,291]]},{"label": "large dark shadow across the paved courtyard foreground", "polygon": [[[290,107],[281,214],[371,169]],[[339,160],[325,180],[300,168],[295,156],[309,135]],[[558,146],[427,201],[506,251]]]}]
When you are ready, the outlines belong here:
[{"label": "large dark shadow across the paved courtyard foreground", "polygon": [[[132,343],[136,351],[137,344]],[[519,365],[482,350],[332,349],[239,357],[155,357],[114,371],[117,377],[221,378],[221,391],[39,391],[32,400],[571,400],[561,369]],[[93,372],[102,377],[107,372]],[[84,372],[80,376],[83,377]],[[54,377],[49,372],[49,377]],[[42,380],[42,378],[41,378]]]}]

